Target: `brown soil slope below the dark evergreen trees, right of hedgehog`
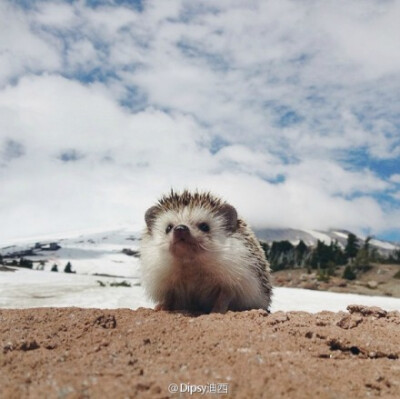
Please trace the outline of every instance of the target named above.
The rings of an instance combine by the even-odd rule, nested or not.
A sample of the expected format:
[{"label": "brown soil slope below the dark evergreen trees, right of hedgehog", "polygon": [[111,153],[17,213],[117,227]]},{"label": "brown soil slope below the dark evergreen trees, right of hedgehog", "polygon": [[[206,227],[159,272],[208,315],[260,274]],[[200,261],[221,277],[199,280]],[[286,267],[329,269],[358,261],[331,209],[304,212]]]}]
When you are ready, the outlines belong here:
[{"label": "brown soil slope below the dark evergreen trees, right of hedgehog", "polygon": [[400,298],[400,280],[394,277],[400,271],[400,265],[373,264],[371,270],[358,273],[357,279],[353,281],[341,277],[343,270],[344,267],[337,267],[335,276],[327,282],[319,281],[315,270],[312,273],[307,273],[304,268],[280,270],[272,274],[272,282],[275,287]]}]

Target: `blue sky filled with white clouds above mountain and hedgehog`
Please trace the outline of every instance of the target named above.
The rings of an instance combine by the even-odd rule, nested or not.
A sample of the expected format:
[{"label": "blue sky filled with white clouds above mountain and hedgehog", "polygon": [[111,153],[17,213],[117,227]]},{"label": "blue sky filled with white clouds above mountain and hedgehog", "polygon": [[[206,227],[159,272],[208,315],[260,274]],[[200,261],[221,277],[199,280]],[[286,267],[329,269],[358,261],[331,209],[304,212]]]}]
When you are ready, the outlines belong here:
[{"label": "blue sky filled with white clouds above mountain and hedgehog", "polygon": [[0,243],[140,226],[171,188],[400,242],[399,20],[398,0],[0,0]]}]

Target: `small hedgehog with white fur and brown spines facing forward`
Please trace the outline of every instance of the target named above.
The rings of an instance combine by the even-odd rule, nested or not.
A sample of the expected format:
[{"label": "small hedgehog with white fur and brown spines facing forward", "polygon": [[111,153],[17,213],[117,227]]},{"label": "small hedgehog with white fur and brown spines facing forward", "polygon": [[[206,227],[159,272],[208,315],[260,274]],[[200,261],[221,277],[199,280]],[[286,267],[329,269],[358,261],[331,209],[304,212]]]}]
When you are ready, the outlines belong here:
[{"label": "small hedgehog with white fur and brown spines facing forward", "polygon": [[269,311],[269,264],[232,205],[210,192],[171,190],[145,222],[142,284],[156,310]]}]

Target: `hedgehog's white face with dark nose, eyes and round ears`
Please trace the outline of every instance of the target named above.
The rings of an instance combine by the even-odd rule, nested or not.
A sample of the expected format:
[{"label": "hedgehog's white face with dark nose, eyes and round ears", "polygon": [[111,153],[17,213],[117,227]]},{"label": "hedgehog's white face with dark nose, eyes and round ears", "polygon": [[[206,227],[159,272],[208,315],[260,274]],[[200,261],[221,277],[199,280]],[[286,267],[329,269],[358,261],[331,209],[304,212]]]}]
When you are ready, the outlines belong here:
[{"label": "hedgehog's white face with dark nose, eyes and round ears", "polygon": [[146,212],[146,223],[160,248],[175,258],[192,260],[224,247],[227,237],[237,228],[237,213],[228,204],[218,212],[184,206],[160,213],[157,207],[153,207]]}]

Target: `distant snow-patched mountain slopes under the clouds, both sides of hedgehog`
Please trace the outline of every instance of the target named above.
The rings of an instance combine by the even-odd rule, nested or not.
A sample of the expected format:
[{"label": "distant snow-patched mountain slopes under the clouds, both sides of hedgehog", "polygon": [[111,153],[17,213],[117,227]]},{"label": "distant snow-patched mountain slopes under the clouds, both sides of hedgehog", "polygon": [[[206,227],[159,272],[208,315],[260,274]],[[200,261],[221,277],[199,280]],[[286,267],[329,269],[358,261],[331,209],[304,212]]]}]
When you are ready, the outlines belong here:
[{"label": "distant snow-patched mountain slopes under the clouds, both sides of hedgehog", "polygon": [[[296,230],[262,229],[255,230],[260,240],[272,242],[288,240],[297,244],[303,240],[306,245],[316,245],[318,240],[330,244],[338,241],[346,245],[348,231],[345,230]],[[78,274],[107,274],[129,278],[138,278],[138,247],[140,232],[127,228],[105,230],[96,233],[77,233],[71,237],[47,237],[21,241],[15,245],[0,248],[0,254],[12,259],[33,261],[34,269],[50,271],[57,265],[63,271],[68,262]],[[360,238],[361,243],[363,242]],[[384,255],[399,247],[387,241],[372,239],[370,245]]]}]

